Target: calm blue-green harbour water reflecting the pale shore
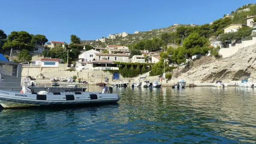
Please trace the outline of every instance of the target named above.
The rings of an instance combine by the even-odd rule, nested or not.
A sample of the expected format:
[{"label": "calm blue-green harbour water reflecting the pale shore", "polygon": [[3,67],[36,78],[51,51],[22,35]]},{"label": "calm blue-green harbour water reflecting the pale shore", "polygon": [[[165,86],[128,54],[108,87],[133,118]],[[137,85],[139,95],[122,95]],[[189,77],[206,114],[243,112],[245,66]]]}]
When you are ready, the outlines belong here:
[{"label": "calm blue-green harbour water reflecting the pale shore", "polygon": [[[90,86],[90,91],[100,91]],[[0,143],[254,143],[256,89],[114,88],[118,104],[0,108]]]}]

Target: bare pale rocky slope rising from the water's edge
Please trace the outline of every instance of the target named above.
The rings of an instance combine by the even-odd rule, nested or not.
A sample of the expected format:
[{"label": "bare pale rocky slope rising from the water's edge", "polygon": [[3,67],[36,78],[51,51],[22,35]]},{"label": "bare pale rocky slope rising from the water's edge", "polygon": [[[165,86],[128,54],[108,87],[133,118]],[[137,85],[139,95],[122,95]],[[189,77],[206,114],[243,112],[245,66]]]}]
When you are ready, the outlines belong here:
[{"label": "bare pale rocky slope rising from the water's edge", "polygon": [[169,83],[175,83],[181,78],[188,83],[213,83],[217,80],[231,82],[239,81],[246,76],[256,78],[256,44],[239,49],[228,58],[217,59],[212,63],[189,69],[178,78],[172,78]]}]

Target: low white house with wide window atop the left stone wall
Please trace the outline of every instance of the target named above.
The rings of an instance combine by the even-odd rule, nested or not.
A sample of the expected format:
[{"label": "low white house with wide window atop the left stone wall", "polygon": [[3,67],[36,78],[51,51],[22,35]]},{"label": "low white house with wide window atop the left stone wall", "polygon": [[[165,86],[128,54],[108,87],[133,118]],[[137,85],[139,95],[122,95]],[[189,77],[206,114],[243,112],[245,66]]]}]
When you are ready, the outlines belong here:
[{"label": "low white house with wide window atop the left stone wall", "polygon": [[58,67],[59,63],[61,63],[61,59],[58,58],[42,58],[35,61],[35,65],[41,67]]}]

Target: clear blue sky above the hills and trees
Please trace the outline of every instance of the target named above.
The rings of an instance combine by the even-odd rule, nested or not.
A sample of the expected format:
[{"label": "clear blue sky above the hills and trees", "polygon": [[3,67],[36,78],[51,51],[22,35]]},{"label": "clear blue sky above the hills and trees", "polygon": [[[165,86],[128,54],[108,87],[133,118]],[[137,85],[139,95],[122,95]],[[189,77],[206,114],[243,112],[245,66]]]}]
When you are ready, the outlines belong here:
[{"label": "clear blue sky above the hills and trees", "polygon": [[2,0],[0,29],[70,43],[180,24],[204,24],[255,0]]}]

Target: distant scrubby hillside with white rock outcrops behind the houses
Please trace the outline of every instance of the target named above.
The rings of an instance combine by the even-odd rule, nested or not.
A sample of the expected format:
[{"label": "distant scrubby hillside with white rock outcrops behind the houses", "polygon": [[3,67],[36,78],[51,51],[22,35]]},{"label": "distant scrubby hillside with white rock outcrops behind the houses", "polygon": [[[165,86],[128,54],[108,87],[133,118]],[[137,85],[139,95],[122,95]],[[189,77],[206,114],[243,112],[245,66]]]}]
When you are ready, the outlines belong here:
[{"label": "distant scrubby hillside with white rock outcrops behind the houses", "polygon": [[190,24],[190,25],[174,24],[167,28],[151,29],[146,32],[137,31],[134,34],[127,34],[126,32],[119,33],[119,34],[110,34],[110,36],[108,37],[103,37],[97,40],[81,40],[81,43],[83,44],[87,43],[87,44],[90,44],[91,46],[96,46],[96,47],[105,47],[106,45],[128,45],[132,43],[137,43],[140,40],[148,40],[148,39],[152,39],[153,37],[160,37],[160,35],[164,32],[175,32],[177,27],[180,27],[180,26],[196,26],[196,25],[195,24]]}]

